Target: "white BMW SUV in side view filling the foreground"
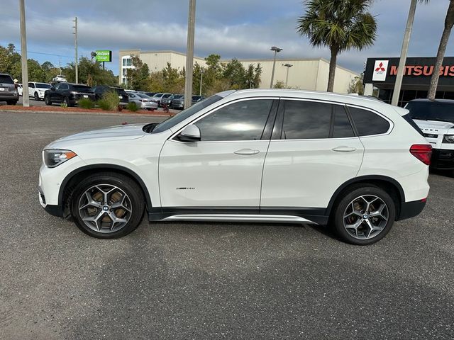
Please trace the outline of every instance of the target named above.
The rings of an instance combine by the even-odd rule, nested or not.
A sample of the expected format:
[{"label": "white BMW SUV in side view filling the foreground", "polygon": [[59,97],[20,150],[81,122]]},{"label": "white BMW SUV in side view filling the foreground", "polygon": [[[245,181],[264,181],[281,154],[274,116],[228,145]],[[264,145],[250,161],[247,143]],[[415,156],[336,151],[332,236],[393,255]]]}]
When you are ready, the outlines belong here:
[{"label": "white BMW SUV in side view filling the foreground", "polygon": [[[431,145],[373,98],[255,89],[43,150],[40,204],[99,238],[149,221],[331,225],[372,244],[426,203]],[[411,119],[408,119],[411,123]]]}]

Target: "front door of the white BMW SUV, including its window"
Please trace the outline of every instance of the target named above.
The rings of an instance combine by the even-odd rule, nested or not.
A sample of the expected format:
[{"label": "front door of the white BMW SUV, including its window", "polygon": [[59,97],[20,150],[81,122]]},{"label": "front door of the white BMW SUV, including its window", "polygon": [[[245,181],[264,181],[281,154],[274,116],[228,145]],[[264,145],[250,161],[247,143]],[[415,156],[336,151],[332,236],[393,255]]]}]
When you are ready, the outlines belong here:
[{"label": "front door of the white BMW SUV, including its window", "polygon": [[258,211],[276,108],[273,98],[227,103],[193,122],[199,142],[181,142],[181,130],[170,137],[159,161],[162,207]]}]

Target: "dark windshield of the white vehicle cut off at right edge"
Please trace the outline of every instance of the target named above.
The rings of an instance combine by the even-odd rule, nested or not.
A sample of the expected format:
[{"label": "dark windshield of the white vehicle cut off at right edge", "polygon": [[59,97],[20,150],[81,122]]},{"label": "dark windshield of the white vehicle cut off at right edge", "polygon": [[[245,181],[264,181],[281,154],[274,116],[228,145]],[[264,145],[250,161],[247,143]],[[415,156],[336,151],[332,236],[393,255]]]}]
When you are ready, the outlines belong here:
[{"label": "dark windshield of the white vehicle cut off at right edge", "polygon": [[410,111],[412,119],[454,123],[454,102],[413,101],[409,102],[405,108]]}]

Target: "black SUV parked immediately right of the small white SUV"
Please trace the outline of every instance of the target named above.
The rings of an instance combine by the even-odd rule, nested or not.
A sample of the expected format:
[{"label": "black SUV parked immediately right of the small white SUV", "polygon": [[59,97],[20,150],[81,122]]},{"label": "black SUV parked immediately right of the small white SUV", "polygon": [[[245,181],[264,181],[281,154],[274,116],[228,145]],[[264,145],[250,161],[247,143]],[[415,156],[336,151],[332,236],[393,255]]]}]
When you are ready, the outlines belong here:
[{"label": "black SUV parked immediately right of the small white SUV", "polygon": [[46,105],[65,103],[67,106],[74,106],[82,98],[96,100],[96,95],[90,86],[62,82],[52,86],[50,90],[46,90],[44,93]]}]

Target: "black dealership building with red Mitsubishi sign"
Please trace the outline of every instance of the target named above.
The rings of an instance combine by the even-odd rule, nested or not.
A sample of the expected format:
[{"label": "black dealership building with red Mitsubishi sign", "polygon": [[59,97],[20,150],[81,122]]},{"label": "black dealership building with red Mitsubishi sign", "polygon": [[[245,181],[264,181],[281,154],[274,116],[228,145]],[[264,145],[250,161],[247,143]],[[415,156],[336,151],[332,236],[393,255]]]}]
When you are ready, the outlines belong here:
[{"label": "black dealership building with red Mitsubishi sign", "polygon": [[[411,99],[427,98],[435,60],[435,57],[406,58],[399,106],[405,106]],[[365,95],[371,96],[373,90],[377,89],[378,97],[391,103],[398,67],[399,58],[367,59],[364,74]],[[439,72],[436,98],[454,99],[454,57],[445,57]]]}]

